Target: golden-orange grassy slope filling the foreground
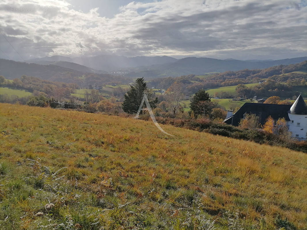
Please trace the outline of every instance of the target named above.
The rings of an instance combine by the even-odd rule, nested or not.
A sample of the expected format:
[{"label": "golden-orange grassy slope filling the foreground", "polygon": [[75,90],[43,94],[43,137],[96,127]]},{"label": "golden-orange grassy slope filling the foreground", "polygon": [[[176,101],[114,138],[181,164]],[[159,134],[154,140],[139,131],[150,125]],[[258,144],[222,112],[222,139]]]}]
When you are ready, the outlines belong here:
[{"label": "golden-orange grassy slope filling the foreground", "polygon": [[306,154],[163,128],[0,104],[0,228],[306,229]]}]

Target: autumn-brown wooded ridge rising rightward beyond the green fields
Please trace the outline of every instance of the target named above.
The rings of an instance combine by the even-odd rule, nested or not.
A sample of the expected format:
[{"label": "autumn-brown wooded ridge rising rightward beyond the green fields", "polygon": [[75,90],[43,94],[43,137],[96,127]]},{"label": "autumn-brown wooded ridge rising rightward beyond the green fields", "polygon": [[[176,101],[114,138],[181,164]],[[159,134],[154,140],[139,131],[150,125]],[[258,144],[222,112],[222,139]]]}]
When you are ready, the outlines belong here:
[{"label": "autumn-brown wooded ridge rising rightward beyond the green fields", "polygon": [[266,69],[240,71],[226,71],[223,73],[211,73],[202,76],[186,75],[177,78],[159,78],[153,79],[149,83],[150,86],[161,87],[167,89],[173,82],[179,81],[185,85],[185,93],[187,95],[194,94],[199,89],[210,89],[223,86],[237,86],[239,84],[259,83],[255,86],[255,95],[273,96],[275,90],[279,94],[287,91],[289,96],[293,96],[293,87],[305,86],[307,81],[307,61],[291,64],[288,66],[279,65]]}]

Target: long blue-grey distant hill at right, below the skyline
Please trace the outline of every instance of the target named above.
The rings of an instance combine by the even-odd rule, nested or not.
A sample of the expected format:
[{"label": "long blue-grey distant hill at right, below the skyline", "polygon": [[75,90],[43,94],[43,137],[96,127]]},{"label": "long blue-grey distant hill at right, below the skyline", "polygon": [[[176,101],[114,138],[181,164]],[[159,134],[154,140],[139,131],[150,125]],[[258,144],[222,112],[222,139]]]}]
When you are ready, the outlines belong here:
[{"label": "long blue-grey distant hill at right, below the skyline", "polygon": [[214,58],[187,57],[173,63],[135,68],[125,76],[162,77],[181,75],[203,75],[209,72],[238,71],[242,69],[264,69],[277,65],[289,65],[307,60],[307,57],[282,59],[274,61],[241,61],[235,59],[220,60]]}]

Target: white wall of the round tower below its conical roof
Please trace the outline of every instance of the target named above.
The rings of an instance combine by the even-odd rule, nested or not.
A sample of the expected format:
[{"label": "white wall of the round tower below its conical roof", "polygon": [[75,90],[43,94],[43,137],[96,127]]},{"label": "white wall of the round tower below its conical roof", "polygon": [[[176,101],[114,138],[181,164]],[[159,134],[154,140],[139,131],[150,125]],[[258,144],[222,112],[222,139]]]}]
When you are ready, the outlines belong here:
[{"label": "white wall of the round tower below its conical roof", "polygon": [[[307,138],[306,136],[307,115],[298,115],[298,114],[291,114],[291,113],[288,113],[288,115],[289,115],[290,121],[288,121],[287,124],[289,125],[289,131],[292,132],[292,137],[306,139]],[[297,125],[297,123],[300,123],[300,125]],[[298,137],[296,135],[298,135]]]}]

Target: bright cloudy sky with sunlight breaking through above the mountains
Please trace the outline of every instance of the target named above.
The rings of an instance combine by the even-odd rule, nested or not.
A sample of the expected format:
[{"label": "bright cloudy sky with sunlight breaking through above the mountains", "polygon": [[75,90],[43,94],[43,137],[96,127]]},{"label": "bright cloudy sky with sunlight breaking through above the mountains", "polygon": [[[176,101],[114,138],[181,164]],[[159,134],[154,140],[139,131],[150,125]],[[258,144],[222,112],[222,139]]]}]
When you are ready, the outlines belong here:
[{"label": "bright cloudy sky with sunlight breaking through above the mountains", "polygon": [[14,60],[284,59],[307,56],[307,1],[0,0],[0,32],[0,58]]}]

